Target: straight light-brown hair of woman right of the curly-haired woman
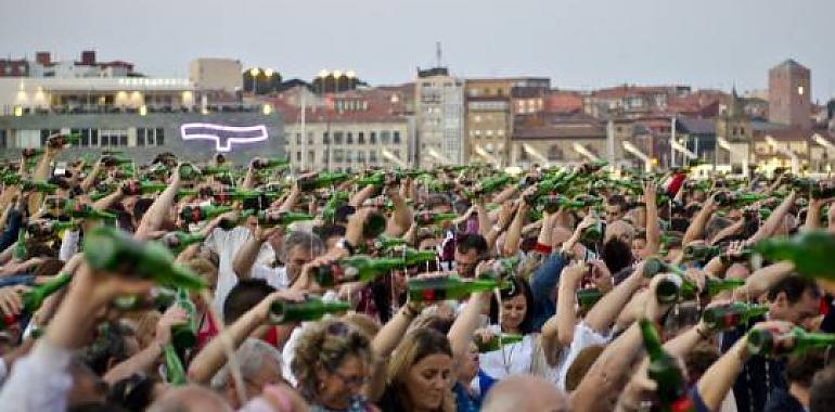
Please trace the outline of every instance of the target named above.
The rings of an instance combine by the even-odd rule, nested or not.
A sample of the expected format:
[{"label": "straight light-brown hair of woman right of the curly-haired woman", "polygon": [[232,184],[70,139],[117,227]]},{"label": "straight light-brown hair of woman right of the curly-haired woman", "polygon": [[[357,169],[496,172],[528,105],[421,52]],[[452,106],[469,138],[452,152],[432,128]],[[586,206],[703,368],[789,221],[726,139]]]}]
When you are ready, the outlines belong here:
[{"label": "straight light-brown hair of woman right of the curly-haired woman", "polygon": [[[409,371],[424,358],[437,353],[452,358],[452,348],[446,335],[428,327],[409,332],[395,349],[391,360],[388,362],[388,386],[400,395],[398,398],[401,403],[404,403],[401,407],[406,410],[411,409],[413,403],[404,387]],[[438,412],[455,411],[455,395],[452,392],[451,386],[448,389],[444,395]]]}]

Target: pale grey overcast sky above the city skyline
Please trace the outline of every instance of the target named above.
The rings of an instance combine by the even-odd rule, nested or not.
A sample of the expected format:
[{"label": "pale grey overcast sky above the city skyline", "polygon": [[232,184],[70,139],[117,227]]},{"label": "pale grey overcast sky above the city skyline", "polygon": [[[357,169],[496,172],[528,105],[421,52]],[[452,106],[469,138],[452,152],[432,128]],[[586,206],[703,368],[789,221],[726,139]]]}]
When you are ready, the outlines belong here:
[{"label": "pale grey overcast sky above the city skyline", "polygon": [[444,63],[467,77],[741,91],[765,89],[768,68],[793,57],[824,100],[835,95],[834,21],[833,0],[0,0],[0,53],[92,48],[183,77],[194,57],[234,57],[285,78],[342,68],[381,85],[433,65],[440,41]]}]

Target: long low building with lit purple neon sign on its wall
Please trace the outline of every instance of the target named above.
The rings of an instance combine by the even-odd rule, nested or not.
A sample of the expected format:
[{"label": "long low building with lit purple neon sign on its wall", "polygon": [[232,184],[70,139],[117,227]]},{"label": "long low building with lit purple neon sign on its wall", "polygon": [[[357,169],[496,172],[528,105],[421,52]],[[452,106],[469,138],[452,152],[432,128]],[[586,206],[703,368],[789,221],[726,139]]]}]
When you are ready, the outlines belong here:
[{"label": "long low building with lit purple neon sign on its wall", "polygon": [[22,149],[43,146],[52,133],[73,132],[81,143],[67,156],[118,150],[147,162],[174,152],[205,162],[224,152],[245,163],[284,155],[282,118],[272,107],[201,98],[185,79],[1,78],[0,153],[16,157]]}]

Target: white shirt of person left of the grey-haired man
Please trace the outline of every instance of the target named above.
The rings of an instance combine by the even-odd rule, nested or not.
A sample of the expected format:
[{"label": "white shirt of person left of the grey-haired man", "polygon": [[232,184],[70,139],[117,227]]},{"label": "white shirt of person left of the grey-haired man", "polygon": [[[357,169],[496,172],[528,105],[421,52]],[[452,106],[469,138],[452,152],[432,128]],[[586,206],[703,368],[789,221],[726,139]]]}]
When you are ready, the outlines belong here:
[{"label": "white shirt of person left of the grey-haired man", "polygon": [[[237,284],[237,275],[232,269],[232,261],[235,258],[235,253],[249,236],[252,236],[252,232],[244,227],[237,227],[229,231],[215,228],[205,241],[206,245],[218,254],[218,283],[215,291],[215,300],[211,304],[217,313],[223,313],[223,301],[227,299],[229,291]],[[256,262],[264,265],[274,261],[274,259],[275,253],[272,250],[272,246],[269,243],[261,245]]]}]

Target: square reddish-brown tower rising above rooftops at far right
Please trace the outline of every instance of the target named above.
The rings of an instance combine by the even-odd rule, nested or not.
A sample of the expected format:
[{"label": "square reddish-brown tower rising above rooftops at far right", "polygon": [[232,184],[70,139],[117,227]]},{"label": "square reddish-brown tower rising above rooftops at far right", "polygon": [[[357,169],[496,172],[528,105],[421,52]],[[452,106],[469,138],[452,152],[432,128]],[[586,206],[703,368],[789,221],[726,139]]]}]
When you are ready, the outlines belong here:
[{"label": "square reddish-brown tower rising above rooftops at far right", "polygon": [[811,72],[794,60],[769,70],[769,121],[808,129],[812,113]]}]

